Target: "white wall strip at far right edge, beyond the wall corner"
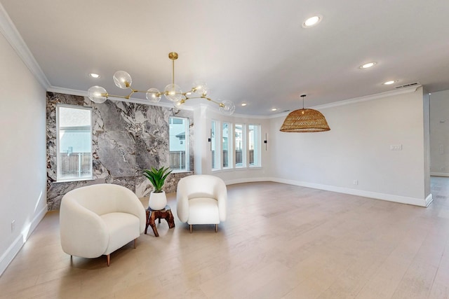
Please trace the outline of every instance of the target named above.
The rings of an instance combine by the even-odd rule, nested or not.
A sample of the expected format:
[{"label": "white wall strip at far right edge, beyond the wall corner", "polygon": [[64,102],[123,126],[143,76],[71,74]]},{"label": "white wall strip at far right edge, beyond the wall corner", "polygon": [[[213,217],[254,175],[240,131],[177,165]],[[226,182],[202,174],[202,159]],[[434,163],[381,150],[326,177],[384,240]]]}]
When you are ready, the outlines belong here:
[{"label": "white wall strip at far right edge, beyond the wall corner", "polygon": [[430,95],[430,172],[449,176],[449,90]]}]

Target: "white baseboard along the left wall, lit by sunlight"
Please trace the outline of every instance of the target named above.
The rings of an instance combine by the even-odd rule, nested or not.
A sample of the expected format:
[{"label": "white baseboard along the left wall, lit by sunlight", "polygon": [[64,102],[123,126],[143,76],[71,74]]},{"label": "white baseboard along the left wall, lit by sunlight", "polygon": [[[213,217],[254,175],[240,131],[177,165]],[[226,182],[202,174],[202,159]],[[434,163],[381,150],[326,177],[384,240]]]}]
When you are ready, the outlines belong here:
[{"label": "white baseboard along the left wall, lit by sunlight", "polygon": [[0,275],[6,270],[6,267],[11,263],[13,258],[19,253],[23,244],[27,241],[32,232],[36,229],[37,225],[45,214],[47,213],[48,206],[47,204],[39,211],[36,216],[34,216],[33,220],[29,223],[26,229],[23,229],[20,235],[16,237],[11,244],[11,246],[6,249],[5,253],[0,257]]}]

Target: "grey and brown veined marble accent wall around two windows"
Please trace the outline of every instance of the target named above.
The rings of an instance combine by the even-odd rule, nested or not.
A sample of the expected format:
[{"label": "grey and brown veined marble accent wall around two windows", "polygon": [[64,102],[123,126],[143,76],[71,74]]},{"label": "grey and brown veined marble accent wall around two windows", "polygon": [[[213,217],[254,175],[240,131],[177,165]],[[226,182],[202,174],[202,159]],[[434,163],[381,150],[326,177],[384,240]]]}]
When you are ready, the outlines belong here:
[{"label": "grey and brown veined marble accent wall around two windows", "polygon": [[[56,105],[91,106],[93,118],[93,180],[56,182]],[[111,101],[96,104],[87,97],[47,92],[47,203],[59,209],[69,190],[96,183],[115,183],[133,190],[138,197],[152,190],[142,169],[168,166],[168,118],[189,118],[192,111],[175,111],[160,106]],[[190,130],[191,172],[170,174],[164,190],[176,191],[177,182],[193,173],[193,130]]]}]

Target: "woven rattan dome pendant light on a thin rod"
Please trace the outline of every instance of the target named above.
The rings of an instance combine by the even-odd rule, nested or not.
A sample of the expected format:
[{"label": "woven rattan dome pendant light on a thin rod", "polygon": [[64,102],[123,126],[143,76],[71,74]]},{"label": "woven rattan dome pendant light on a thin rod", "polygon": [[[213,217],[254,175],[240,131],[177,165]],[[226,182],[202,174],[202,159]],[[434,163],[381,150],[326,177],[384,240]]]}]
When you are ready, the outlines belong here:
[{"label": "woven rattan dome pendant light on a thin rod", "polygon": [[304,109],[304,97],[302,97],[302,109],[292,111],[283,121],[281,132],[323,132],[330,130],[326,118],[321,112],[314,109]]}]

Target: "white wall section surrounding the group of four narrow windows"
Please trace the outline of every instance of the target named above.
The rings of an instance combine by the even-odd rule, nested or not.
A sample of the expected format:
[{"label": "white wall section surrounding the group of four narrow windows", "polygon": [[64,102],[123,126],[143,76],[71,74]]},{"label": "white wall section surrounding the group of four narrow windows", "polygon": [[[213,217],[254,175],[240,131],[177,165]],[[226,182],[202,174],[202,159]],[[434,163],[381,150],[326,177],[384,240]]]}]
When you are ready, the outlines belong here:
[{"label": "white wall section surrounding the group of four narrow windows", "polygon": [[[207,141],[210,137],[212,120],[228,123],[241,123],[246,125],[260,125],[261,160],[262,167],[234,168],[212,171],[212,152]],[[269,120],[264,117],[251,116],[225,116],[217,111],[215,106],[198,106],[194,111],[194,163],[195,174],[213,174],[222,178],[225,183],[243,183],[249,181],[269,180],[269,152],[265,151],[263,139],[265,132],[269,131]]]}]

